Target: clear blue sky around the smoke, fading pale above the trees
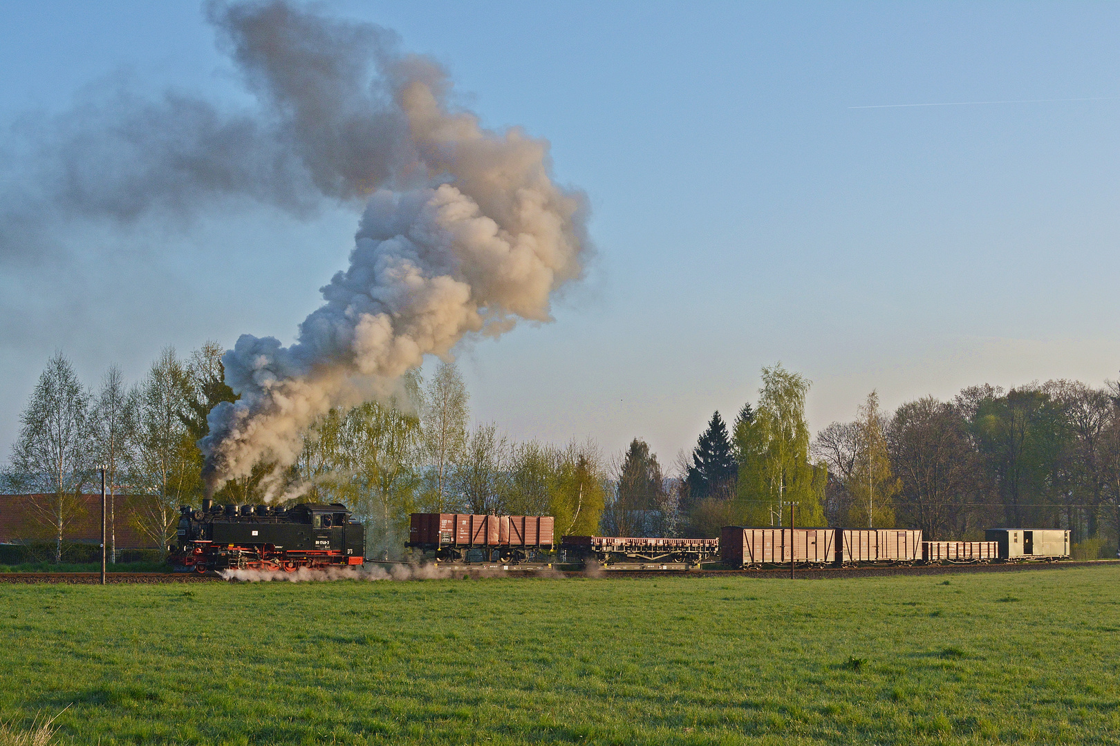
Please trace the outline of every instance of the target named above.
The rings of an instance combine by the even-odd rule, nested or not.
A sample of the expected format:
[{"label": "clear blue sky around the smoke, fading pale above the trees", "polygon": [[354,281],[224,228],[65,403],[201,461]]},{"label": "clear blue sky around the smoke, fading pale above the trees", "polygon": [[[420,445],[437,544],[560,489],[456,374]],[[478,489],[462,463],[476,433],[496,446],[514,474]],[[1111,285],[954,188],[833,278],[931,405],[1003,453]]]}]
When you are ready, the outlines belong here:
[{"label": "clear blue sky around the smoke, fading pale above the trees", "polygon": [[[432,55],[590,200],[553,321],[457,350],[473,417],[513,438],[642,437],[670,463],[778,361],[812,380],[814,431],[871,389],[892,409],[1118,376],[1116,3],[318,7]],[[121,89],[250,100],[197,3],[0,4],[2,193],[35,189],[28,132]],[[96,387],[168,344],[291,341],[357,214],[56,223],[64,251],[0,256],[0,459],[56,350]]]}]

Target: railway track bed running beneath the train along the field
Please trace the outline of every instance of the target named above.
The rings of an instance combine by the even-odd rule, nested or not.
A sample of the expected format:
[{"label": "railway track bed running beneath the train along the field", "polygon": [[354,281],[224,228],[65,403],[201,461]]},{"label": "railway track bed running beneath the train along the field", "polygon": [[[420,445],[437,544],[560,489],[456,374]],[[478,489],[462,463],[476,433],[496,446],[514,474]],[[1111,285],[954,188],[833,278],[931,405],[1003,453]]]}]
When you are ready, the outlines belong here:
[{"label": "railway track bed running beneath the train along the field", "polygon": [[[1094,560],[1062,560],[1055,563],[997,563],[991,565],[914,565],[914,566],[887,566],[887,567],[813,567],[796,568],[797,579],[836,579],[844,577],[887,577],[893,575],[956,575],[961,573],[1016,573],[1027,570],[1058,570],[1079,567],[1117,567],[1120,560],[1117,559],[1094,559]],[[446,567],[446,566],[445,566]],[[461,577],[463,575],[483,576],[476,568],[469,566],[447,568],[448,575]],[[556,572],[556,570],[553,570]],[[754,578],[788,578],[788,567],[773,567],[760,569],[599,569],[599,570],[560,570],[560,575],[572,578],[654,578],[654,577],[754,577]],[[536,573],[526,570],[493,570],[487,569],[485,577],[534,577]],[[0,584],[36,584],[36,583],[58,583],[75,585],[96,585],[101,582],[100,573],[0,573]],[[105,576],[106,583],[214,583],[223,582],[217,575],[197,575],[194,573],[109,573]]]}]

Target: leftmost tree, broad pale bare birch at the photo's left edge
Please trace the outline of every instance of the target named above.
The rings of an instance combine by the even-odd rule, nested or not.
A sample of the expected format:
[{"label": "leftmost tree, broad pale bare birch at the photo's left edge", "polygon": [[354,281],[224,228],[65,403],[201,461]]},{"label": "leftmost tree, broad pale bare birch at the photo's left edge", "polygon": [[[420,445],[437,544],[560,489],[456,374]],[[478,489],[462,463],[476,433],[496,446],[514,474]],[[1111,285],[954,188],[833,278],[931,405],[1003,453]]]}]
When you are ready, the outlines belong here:
[{"label": "leftmost tree, broad pale bare birch at the photo's left edge", "polygon": [[11,488],[35,493],[31,507],[50,527],[55,561],[62,561],[63,537],[84,512],[82,489],[95,470],[91,398],[69,360],[56,352],[20,415],[22,427],[6,474]]}]

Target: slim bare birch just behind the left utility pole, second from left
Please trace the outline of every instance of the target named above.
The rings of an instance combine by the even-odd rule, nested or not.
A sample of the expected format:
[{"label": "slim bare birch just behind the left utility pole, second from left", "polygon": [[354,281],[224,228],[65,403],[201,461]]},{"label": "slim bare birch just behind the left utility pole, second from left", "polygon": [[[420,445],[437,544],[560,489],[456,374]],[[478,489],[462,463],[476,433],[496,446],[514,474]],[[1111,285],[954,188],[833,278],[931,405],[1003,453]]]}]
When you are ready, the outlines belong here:
[{"label": "slim bare birch just behind the left utility pole, second from left", "polygon": [[116,490],[132,463],[132,436],[136,426],[136,396],[124,385],[118,366],[111,366],[101,379],[101,390],[93,405],[92,433],[97,462],[105,468],[109,498],[109,547],[116,563]]}]

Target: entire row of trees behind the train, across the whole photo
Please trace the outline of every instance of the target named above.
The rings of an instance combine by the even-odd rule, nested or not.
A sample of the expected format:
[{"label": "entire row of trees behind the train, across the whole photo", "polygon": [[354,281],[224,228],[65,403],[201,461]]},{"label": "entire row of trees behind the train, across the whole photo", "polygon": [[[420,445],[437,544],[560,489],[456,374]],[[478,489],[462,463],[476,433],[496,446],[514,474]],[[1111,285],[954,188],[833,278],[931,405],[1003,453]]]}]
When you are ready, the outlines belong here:
[{"label": "entire row of trees behind the train, across the whole photo", "polygon": [[[152,544],[174,539],[180,504],[203,497],[206,414],[233,400],[222,348],[186,358],[165,349],[129,386],[116,367],[96,390],[56,353],[21,415],[3,471],[32,502],[58,550],[104,464],[111,495],[150,500],[127,520]],[[1120,387],[1055,380],[963,389],[884,412],[871,391],[851,422],[813,437],[811,381],[781,363],[762,370],[754,403],[730,426],[716,412],[691,453],[665,468],[634,438],[604,455],[590,440],[515,442],[494,423],[470,425],[454,362],[430,380],[408,375],[383,402],[333,409],[305,437],[297,463],[260,464],[218,502],[342,502],[393,553],[414,511],[551,514],[558,536],[718,536],[728,525],[909,527],[937,539],[979,538],[992,526],[1068,528],[1103,551],[1120,536]],[[793,511],[791,513],[791,511]],[[1095,547],[1095,549],[1093,549]],[[1110,550],[1111,551],[1111,550]],[[1091,554],[1090,553],[1090,554]]]}]

